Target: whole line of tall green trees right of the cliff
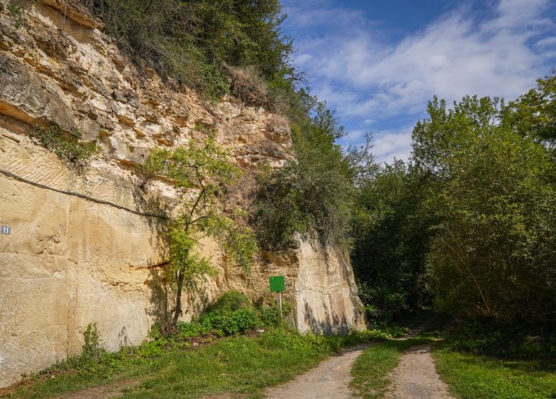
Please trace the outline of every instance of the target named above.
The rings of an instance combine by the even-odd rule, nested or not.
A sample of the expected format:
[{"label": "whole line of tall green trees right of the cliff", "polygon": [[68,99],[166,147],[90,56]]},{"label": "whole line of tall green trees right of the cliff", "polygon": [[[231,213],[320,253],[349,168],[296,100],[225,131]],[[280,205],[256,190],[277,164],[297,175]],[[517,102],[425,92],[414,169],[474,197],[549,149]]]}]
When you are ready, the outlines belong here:
[{"label": "whole line of tall green trees right of the cliff", "polygon": [[517,100],[434,98],[413,152],[357,188],[352,259],[373,321],[433,304],[556,314],[556,74]]}]

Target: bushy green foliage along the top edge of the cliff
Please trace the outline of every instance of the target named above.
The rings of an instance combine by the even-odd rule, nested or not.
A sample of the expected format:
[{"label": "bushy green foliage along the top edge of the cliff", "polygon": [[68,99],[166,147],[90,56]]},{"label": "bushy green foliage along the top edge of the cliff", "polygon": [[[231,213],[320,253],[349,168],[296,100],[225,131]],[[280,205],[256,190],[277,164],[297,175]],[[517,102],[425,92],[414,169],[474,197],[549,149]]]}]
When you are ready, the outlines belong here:
[{"label": "bushy green foliage along the top edge of the cliff", "polygon": [[140,68],[153,68],[209,98],[229,90],[224,65],[254,68],[265,81],[294,76],[278,0],[79,1]]}]

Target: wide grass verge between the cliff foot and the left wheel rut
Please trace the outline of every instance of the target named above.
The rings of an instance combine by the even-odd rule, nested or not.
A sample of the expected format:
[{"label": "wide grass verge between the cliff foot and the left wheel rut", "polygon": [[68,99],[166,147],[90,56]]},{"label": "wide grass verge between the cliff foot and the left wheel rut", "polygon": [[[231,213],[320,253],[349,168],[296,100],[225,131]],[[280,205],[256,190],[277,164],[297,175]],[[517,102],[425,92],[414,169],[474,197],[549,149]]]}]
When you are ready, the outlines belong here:
[{"label": "wide grass verge between the cliff foot and the left wheel rut", "polygon": [[205,398],[222,393],[263,398],[268,386],[304,373],[339,348],[384,337],[391,337],[391,332],[304,336],[277,329],[254,337],[215,339],[197,348],[158,340],[103,353],[100,361],[70,359],[27,378],[18,389],[0,397],[51,398],[130,378],[140,384],[124,390],[122,398]]}]

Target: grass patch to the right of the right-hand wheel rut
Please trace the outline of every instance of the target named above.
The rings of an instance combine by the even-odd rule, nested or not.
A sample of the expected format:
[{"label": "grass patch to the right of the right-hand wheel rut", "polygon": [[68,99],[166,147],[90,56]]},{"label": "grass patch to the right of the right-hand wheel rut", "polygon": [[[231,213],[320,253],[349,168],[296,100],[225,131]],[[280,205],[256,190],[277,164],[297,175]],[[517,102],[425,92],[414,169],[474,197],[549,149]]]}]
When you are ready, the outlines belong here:
[{"label": "grass patch to the right of the right-hand wheel rut", "polygon": [[451,351],[433,351],[436,369],[459,399],[556,398],[556,373],[538,361],[510,361]]}]

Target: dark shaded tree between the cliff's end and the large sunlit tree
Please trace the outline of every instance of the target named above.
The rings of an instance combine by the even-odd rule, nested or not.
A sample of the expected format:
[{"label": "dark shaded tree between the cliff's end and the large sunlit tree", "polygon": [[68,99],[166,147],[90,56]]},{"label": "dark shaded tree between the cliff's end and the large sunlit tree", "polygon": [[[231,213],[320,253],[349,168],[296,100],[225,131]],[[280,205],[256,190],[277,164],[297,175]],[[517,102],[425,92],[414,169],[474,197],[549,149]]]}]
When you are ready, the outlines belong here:
[{"label": "dark shaded tree between the cliff's end and the large sunlit tree", "polygon": [[351,217],[351,261],[371,323],[428,304],[424,278],[433,215],[431,182],[397,160],[360,180]]}]

